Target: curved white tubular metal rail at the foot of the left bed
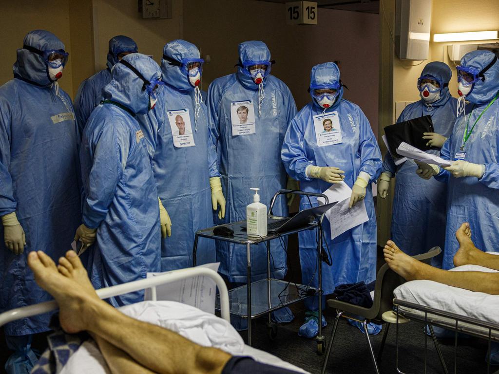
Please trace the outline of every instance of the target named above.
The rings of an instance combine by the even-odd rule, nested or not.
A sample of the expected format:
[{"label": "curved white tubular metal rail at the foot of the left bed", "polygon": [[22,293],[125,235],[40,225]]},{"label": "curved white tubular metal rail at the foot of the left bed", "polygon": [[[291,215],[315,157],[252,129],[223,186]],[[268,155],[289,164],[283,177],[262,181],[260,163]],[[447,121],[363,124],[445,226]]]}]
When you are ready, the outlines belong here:
[{"label": "curved white tubular metal rail at the foot of the left bed", "polygon": [[[177,282],[183,279],[194,278],[198,276],[205,276],[212,279],[220,292],[220,309],[221,316],[224,320],[230,322],[230,311],[229,311],[229,293],[227,286],[222,279],[222,277],[214,270],[205,267],[195,267],[188,269],[173,270],[165,274],[161,274],[155,277],[140,279],[133,282],[128,282],[124,284],[118,284],[116,286],[101,288],[96,290],[97,296],[101,299],[107,299],[113,296],[118,296],[126,294],[129,292],[140,291],[145,289],[151,289],[152,300],[156,300],[156,287]],[[26,307],[15,308],[0,314],[0,326],[6,323],[26,318],[32,317],[37,314],[42,314],[56,310],[58,308],[55,301],[47,301],[44,303],[29,305]]]}]

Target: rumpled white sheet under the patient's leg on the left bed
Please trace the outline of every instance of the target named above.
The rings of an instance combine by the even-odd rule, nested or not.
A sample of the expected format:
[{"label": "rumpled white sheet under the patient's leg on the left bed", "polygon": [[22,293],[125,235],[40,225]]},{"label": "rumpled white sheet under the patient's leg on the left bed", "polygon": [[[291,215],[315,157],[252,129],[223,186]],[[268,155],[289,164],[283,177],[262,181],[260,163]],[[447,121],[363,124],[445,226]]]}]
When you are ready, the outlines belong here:
[{"label": "rumpled white sheet under the patient's leg on the left bed", "polygon": [[[200,345],[220,348],[234,356],[250,356],[255,361],[298,373],[307,373],[273,355],[246,346],[229,322],[195,307],[173,301],[145,301],[127,305],[120,310],[141,321],[173,330]],[[83,343],[61,371],[61,374],[77,373],[110,374],[95,342],[90,340]]]}]

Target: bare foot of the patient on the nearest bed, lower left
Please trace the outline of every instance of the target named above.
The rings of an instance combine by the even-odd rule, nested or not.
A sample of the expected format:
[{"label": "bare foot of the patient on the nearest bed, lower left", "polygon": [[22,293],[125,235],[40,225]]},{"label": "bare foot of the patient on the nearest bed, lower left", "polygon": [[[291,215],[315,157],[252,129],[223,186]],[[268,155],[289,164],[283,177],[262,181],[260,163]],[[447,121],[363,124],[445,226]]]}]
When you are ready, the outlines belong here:
[{"label": "bare foot of the patient on the nearest bed, lower left", "polygon": [[57,271],[54,261],[42,251],[30,252],[28,265],[33,271],[36,283],[52,295],[59,305],[62,329],[68,333],[77,333],[87,329],[91,323],[92,308],[103,301],[99,299],[91,284],[90,287],[88,284],[80,284],[80,282],[84,284],[80,276],[83,268],[80,259],[72,255],[66,259],[73,267],[72,272],[66,268],[71,276]]}]

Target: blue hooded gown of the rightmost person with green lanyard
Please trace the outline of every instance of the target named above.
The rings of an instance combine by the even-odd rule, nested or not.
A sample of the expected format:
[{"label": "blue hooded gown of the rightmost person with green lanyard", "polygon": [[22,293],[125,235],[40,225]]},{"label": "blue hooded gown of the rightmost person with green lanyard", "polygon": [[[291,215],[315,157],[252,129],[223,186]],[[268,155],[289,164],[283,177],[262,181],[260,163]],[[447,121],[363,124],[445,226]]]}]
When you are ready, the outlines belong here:
[{"label": "blue hooded gown of the rightmost person with green lanyard", "polygon": [[[482,70],[494,58],[490,51],[478,50],[467,53],[461,60],[462,66]],[[499,91],[499,61],[487,72],[485,80],[475,83],[466,96],[470,104],[466,106],[466,119],[469,129]],[[466,128],[464,115],[460,115],[451,137],[444,143],[441,157],[454,160],[456,152],[466,152],[465,161],[485,164],[481,179],[475,177],[454,178],[441,170],[435,178],[447,182],[447,230],[445,236],[443,269],[454,267],[453,258],[459,244],[456,230],[463,222],[469,222],[472,240],[484,251],[498,251],[499,243],[499,99],[476,122],[463,151],[463,135]]]}]

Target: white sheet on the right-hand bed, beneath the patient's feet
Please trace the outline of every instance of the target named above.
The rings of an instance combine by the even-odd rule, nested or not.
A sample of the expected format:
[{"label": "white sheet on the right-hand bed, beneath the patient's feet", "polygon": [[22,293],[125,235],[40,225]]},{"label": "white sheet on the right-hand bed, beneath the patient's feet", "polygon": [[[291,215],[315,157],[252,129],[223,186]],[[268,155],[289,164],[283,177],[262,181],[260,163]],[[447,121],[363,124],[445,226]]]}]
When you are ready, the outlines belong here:
[{"label": "white sheet on the right-hand bed, beneath the patient's feet", "polygon": [[[458,266],[451,271],[497,272],[477,265]],[[499,324],[499,295],[474,292],[429,280],[406,282],[397,287],[393,294],[400,300]],[[436,316],[432,318],[439,319]]]}]

